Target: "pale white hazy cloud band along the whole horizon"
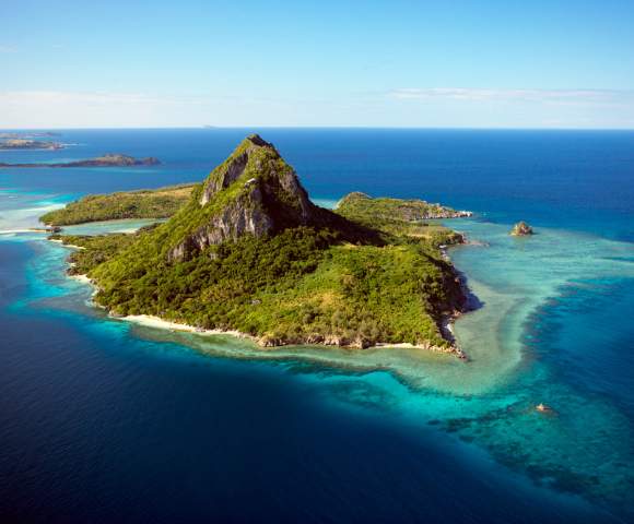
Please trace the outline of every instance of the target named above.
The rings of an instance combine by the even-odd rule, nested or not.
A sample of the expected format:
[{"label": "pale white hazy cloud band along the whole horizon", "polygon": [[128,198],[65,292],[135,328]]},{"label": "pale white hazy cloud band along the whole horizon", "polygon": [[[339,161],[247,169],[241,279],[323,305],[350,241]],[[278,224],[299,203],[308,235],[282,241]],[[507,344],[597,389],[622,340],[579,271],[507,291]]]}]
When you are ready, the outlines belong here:
[{"label": "pale white hazy cloud band along the whole horizon", "polygon": [[0,91],[0,129],[213,126],[634,128],[634,92],[401,88],[362,98]]}]

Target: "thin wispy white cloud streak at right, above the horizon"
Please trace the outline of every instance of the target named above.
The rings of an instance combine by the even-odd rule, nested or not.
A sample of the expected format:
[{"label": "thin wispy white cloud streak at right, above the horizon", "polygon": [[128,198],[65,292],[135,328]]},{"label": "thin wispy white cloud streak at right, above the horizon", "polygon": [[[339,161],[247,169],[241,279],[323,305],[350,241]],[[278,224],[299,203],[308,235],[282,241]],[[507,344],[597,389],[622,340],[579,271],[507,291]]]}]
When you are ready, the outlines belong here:
[{"label": "thin wispy white cloud streak at right, above the horizon", "polygon": [[498,90],[470,87],[398,88],[388,93],[402,100],[529,102],[542,104],[634,103],[634,91]]}]

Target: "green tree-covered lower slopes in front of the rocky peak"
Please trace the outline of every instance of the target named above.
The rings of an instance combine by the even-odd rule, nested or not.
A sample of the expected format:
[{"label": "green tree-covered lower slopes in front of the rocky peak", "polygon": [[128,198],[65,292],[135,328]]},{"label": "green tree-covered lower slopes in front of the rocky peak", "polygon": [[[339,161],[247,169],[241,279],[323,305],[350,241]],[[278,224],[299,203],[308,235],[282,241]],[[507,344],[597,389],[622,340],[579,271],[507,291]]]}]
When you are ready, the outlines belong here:
[{"label": "green tree-covered lower slopes in front of the rocky peak", "polygon": [[[425,242],[339,245],[328,231],[287,229],[245,237],[168,265],[145,258],[149,234],[68,237],[74,272],[101,287],[97,301],[119,314],[155,314],[211,329],[238,330],[275,344],[339,340],[448,346],[438,330],[459,287],[450,265]],[[124,257],[114,257],[116,252]],[[111,262],[104,264],[105,260]]]}]

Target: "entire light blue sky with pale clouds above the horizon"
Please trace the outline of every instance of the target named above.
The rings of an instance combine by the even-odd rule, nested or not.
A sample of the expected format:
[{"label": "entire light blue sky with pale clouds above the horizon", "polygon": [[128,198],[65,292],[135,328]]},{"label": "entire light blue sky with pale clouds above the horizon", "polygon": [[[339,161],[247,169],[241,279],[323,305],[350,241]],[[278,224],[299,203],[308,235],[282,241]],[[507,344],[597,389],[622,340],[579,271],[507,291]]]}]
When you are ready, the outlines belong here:
[{"label": "entire light blue sky with pale clouds above the horizon", "polygon": [[634,1],[0,3],[0,128],[634,128]]}]

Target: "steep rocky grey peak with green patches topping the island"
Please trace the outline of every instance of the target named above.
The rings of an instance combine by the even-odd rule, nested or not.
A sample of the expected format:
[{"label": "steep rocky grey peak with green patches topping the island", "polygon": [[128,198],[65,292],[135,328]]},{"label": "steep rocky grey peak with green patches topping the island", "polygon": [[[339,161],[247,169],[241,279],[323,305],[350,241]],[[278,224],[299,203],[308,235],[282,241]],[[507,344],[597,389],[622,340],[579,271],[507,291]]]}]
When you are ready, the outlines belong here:
[{"label": "steep rocky grey peak with green patches topping the island", "polygon": [[185,216],[177,217],[188,226],[167,253],[171,262],[244,235],[261,237],[289,227],[343,222],[308,200],[293,168],[257,134],[245,139],[192,198]]}]

